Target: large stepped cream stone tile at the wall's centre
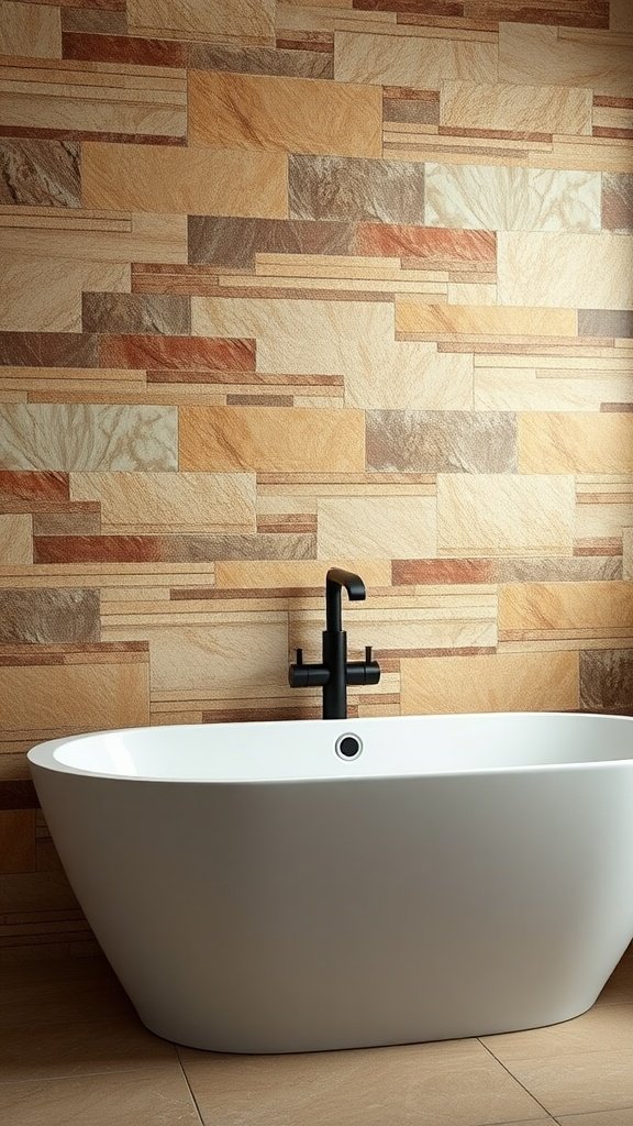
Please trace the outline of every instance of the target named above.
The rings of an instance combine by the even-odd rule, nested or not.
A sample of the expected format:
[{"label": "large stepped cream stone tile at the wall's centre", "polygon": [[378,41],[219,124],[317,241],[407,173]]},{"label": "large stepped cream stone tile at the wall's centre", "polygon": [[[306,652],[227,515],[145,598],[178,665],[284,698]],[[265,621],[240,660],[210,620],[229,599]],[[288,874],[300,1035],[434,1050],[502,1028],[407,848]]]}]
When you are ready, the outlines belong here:
[{"label": "large stepped cream stone tile at the wall's centre", "polygon": [[255,337],[260,372],[345,376],[348,406],[469,410],[472,358],[395,341],[386,302],[193,297],[194,333]]}]

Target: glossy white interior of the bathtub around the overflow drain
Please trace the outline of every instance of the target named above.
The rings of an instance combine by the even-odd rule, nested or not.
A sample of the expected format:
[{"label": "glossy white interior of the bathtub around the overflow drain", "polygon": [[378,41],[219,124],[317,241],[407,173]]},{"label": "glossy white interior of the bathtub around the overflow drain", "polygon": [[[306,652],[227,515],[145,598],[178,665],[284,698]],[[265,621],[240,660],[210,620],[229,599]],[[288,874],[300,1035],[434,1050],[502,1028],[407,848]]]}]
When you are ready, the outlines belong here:
[{"label": "glossy white interior of the bathtub around the overflow drain", "polygon": [[[354,733],[362,752],[336,754]],[[633,720],[569,713],[196,724],[53,740],[35,766],[154,781],[270,783],[531,770],[633,761]]]}]

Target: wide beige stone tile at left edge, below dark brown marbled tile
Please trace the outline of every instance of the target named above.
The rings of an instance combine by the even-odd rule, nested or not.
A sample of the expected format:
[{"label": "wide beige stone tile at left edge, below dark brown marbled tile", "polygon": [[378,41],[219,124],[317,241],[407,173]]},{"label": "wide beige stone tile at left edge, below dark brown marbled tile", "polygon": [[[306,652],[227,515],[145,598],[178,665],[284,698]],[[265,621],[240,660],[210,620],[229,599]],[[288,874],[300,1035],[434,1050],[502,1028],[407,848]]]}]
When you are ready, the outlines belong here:
[{"label": "wide beige stone tile at left edge, below dark brown marbled tile", "polygon": [[[121,148],[131,148],[122,145]],[[145,145],[144,148],[150,148]],[[84,146],[86,153],[86,146]],[[84,160],[88,161],[84,157]],[[121,186],[119,186],[121,187]],[[121,190],[125,189],[121,187]],[[141,200],[143,203],[143,200]],[[15,211],[19,215],[18,209]],[[74,230],[72,223],[69,230],[56,230],[32,221],[29,227],[16,225],[0,229],[0,250],[11,258],[38,259],[45,261],[79,260],[81,269],[95,269],[95,262],[123,262],[130,268],[130,262],[176,263],[187,261],[187,216],[186,215],[121,215],[124,224],[118,229],[100,230],[99,225],[83,231]],[[27,267],[29,268],[29,267]],[[72,277],[72,272],[71,272]]]}]

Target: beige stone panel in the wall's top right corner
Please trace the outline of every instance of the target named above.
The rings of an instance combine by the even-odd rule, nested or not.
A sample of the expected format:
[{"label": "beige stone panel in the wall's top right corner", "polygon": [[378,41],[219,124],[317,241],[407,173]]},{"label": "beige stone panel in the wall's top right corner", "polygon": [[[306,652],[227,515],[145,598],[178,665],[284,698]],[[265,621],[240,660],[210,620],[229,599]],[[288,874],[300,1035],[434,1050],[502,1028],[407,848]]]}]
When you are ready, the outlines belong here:
[{"label": "beige stone panel in the wall's top right corner", "polygon": [[631,98],[631,41],[612,32],[501,23],[499,81],[588,87],[595,93]]}]

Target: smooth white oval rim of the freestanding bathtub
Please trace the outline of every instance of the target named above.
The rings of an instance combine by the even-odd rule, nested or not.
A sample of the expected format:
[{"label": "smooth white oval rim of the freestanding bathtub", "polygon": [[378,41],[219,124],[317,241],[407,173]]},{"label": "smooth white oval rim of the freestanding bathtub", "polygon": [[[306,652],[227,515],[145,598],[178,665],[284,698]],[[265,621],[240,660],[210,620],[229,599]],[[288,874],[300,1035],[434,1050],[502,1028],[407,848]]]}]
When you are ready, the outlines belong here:
[{"label": "smooth white oval rim of the freestanding bathtub", "polygon": [[[360,722],[367,723],[371,721],[373,725],[393,724],[394,720],[451,720],[451,718],[478,718],[487,720],[492,718],[494,722],[499,722],[503,718],[512,716],[516,720],[521,717],[534,717],[543,716],[547,718],[560,718],[565,717],[567,720],[572,720],[573,723],[579,723],[581,720],[591,718],[594,721],[627,721],[633,723],[633,716],[626,715],[606,715],[604,713],[596,712],[476,712],[476,713],[443,713],[440,715],[420,715],[420,716],[364,716],[357,720],[297,720],[289,721],[291,723],[304,724],[311,723],[321,726],[321,724],[327,725],[340,725],[346,724],[348,727],[354,726]],[[286,721],[288,722],[288,721]],[[34,744],[27,751],[27,761],[32,771],[32,775],[36,776],[36,769],[50,771],[52,774],[61,775],[74,775],[80,778],[93,778],[102,781],[125,781],[125,783],[155,783],[155,784],[168,784],[173,785],[176,783],[182,785],[207,785],[207,786],[288,786],[288,785],[301,785],[301,784],[322,784],[322,783],[348,783],[348,781],[385,781],[387,779],[393,780],[412,780],[416,778],[452,778],[452,777],[479,777],[488,775],[531,775],[536,772],[549,772],[552,771],[563,771],[569,772],[571,770],[604,770],[614,767],[633,766],[633,744],[631,749],[631,756],[627,758],[614,757],[606,759],[591,759],[591,760],[573,760],[571,762],[536,762],[536,763],[503,763],[500,766],[480,766],[478,768],[453,768],[444,770],[418,770],[418,771],[402,771],[390,774],[386,769],[378,772],[376,769],[369,774],[356,774],[356,772],[340,772],[328,774],[322,776],[310,776],[309,774],[303,775],[289,775],[287,777],[270,777],[270,778],[257,778],[257,777],[230,777],[230,778],[214,778],[214,777],[182,777],[182,776],[158,776],[158,775],[126,775],[116,774],[114,771],[84,769],[78,766],[72,766],[68,762],[63,762],[56,758],[56,752],[62,748],[71,743],[79,743],[83,740],[96,739],[99,735],[126,735],[128,733],[158,733],[158,732],[187,732],[189,729],[200,730],[211,729],[219,733],[222,730],[231,729],[234,731],[237,727],[264,727],[271,729],[278,727],[278,720],[244,720],[239,723],[219,723],[219,724],[164,724],[159,726],[134,726],[134,727],[116,727],[116,729],[104,729],[99,731],[81,732],[75,735],[62,735],[57,739],[50,739]],[[631,731],[633,735],[633,729]],[[338,762],[341,767],[347,767],[354,771],[355,763],[362,760],[353,760],[348,762]]]}]

